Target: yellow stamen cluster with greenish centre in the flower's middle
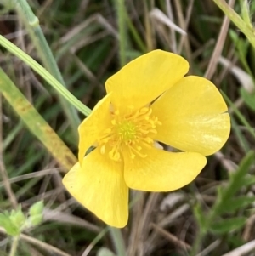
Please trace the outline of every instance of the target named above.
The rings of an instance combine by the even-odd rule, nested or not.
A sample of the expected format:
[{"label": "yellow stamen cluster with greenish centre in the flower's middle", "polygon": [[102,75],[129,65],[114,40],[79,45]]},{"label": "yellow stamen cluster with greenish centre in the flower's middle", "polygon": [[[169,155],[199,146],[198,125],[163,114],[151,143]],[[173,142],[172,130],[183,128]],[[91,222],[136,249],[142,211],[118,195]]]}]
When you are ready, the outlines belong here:
[{"label": "yellow stamen cluster with greenish centre in the flower's middle", "polygon": [[147,155],[143,148],[150,148],[154,144],[156,127],[161,125],[157,117],[151,116],[152,110],[143,107],[139,111],[131,111],[120,114],[120,111],[111,113],[111,128],[107,128],[99,139],[101,154],[108,151],[111,160],[119,162],[122,155],[127,154],[131,159],[136,156],[142,158]]}]

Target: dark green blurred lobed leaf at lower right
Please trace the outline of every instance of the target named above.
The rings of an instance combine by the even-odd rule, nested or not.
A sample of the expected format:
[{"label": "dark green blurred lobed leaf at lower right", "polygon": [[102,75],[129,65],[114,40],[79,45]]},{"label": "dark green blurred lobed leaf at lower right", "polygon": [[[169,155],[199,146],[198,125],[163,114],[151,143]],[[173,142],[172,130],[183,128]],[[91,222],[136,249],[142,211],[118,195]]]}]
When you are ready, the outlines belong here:
[{"label": "dark green blurred lobed leaf at lower right", "polygon": [[242,159],[239,168],[230,175],[228,184],[218,187],[216,201],[209,212],[205,213],[199,203],[195,206],[195,218],[203,236],[209,232],[223,236],[245,225],[246,217],[236,217],[235,214],[254,202],[254,196],[236,194],[241,188],[255,183],[254,177],[248,174],[254,162],[255,152],[250,151]]}]

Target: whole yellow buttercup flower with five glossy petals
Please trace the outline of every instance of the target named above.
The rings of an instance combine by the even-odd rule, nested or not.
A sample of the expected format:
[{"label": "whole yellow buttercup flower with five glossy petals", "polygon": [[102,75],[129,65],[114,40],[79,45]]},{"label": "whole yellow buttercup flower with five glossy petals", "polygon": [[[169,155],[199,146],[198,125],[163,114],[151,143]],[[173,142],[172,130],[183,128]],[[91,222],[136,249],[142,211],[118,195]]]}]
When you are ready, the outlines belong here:
[{"label": "whole yellow buttercup flower with five glossy petals", "polygon": [[[127,224],[128,188],[177,190],[228,139],[221,94],[205,78],[184,77],[188,69],[176,54],[142,55],[106,81],[107,95],[79,126],[79,162],[63,183],[108,225]],[[182,152],[164,151],[158,142]]]}]

